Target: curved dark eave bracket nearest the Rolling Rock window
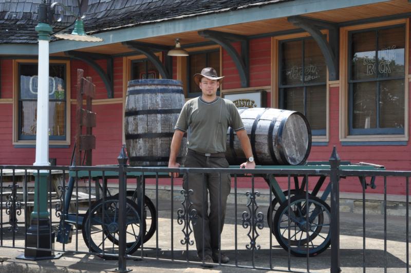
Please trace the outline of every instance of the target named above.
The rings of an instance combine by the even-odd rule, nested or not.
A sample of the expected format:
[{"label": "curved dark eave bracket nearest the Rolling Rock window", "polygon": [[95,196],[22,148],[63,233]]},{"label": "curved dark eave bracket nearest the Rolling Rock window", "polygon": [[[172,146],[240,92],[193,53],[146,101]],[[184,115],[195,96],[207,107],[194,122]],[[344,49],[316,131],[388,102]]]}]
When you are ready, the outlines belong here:
[{"label": "curved dark eave bracket nearest the Rolling Rock window", "polygon": [[[288,22],[300,27],[311,34],[311,37],[319,45],[324,55],[325,63],[328,68],[328,78],[330,81],[339,79],[339,32],[338,24],[315,20],[303,16],[288,17]],[[321,29],[328,29],[329,42],[321,33]]]}]

